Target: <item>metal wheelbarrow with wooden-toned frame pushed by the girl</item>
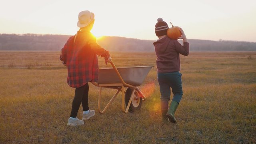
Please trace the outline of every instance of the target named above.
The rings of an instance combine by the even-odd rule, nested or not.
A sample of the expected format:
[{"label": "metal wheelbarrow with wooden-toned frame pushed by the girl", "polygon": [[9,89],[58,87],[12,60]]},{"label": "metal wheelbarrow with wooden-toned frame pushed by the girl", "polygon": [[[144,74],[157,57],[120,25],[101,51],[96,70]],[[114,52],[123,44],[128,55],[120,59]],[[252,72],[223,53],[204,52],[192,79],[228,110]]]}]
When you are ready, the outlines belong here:
[{"label": "metal wheelbarrow with wooden-toned frame pushed by the girl", "polygon": [[[98,82],[92,82],[95,86],[100,87],[98,112],[101,114],[104,113],[119,92],[122,93],[121,106],[124,113],[139,110],[142,101],[146,100],[146,97],[138,86],[142,84],[148,72],[154,66],[116,68],[112,60],[110,61],[110,64],[113,68],[99,69]],[[100,109],[102,88],[112,88],[117,90],[103,110]],[[127,88],[126,91],[124,91],[125,88]]]}]

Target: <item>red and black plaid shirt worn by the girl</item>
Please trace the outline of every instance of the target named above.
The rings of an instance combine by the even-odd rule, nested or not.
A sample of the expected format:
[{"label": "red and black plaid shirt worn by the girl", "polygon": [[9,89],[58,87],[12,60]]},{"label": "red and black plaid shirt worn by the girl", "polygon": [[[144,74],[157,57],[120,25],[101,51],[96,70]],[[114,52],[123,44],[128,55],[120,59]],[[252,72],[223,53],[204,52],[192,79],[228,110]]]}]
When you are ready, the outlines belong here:
[{"label": "red and black plaid shirt worn by the girl", "polygon": [[60,60],[67,64],[67,83],[79,88],[87,82],[98,81],[98,57],[110,57],[107,50],[97,44],[96,38],[89,31],[79,31],[71,36],[61,49]]}]

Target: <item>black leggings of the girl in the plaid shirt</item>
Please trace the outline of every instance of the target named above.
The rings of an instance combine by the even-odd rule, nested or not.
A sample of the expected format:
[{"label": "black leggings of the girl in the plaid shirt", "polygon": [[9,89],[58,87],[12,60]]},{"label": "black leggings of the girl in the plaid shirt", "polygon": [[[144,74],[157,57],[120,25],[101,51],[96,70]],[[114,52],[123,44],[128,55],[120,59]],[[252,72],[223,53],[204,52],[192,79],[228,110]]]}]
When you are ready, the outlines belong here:
[{"label": "black leggings of the girl in the plaid shirt", "polygon": [[72,102],[72,109],[71,109],[70,117],[76,118],[77,112],[79,110],[81,102],[82,102],[83,110],[84,111],[89,110],[89,107],[88,107],[88,92],[89,92],[88,83],[79,87],[79,88],[76,88],[75,97],[74,97],[74,100]]}]

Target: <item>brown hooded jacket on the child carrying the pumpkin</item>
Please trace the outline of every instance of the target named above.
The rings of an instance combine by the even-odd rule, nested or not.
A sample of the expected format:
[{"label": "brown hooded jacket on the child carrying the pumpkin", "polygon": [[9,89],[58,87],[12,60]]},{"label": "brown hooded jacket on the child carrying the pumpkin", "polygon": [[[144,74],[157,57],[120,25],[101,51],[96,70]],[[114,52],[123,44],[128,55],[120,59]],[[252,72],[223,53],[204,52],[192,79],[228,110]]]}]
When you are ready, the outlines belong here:
[{"label": "brown hooded jacket on the child carrying the pumpkin", "polygon": [[156,52],[156,66],[158,73],[180,71],[180,54],[188,56],[189,43],[184,42],[183,46],[168,36],[153,43]]}]

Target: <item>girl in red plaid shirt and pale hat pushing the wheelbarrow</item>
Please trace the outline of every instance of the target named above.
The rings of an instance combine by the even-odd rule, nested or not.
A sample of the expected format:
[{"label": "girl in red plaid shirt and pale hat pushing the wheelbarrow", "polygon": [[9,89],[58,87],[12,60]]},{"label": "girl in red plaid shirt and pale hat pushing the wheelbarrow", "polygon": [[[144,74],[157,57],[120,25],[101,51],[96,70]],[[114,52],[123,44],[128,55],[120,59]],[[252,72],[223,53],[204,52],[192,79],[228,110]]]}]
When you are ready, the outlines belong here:
[{"label": "girl in red plaid shirt and pale hat pushing the wheelbarrow", "polygon": [[[96,38],[90,30],[94,24],[94,13],[86,10],[78,14],[77,26],[80,28],[75,36],[71,36],[61,50],[60,60],[68,67],[67,83],[75,89],[75,96],[72,102],[72,109],[68,125],[77,126],[84,124],[95,115],[94,110],[88,107],[88,82],[98,81],[98,57],[104,57],[105,62],[110,62],[110,54],[99,46]],[[82,120],[77,116],[78,109],[82,102],[84,110]]]}]

